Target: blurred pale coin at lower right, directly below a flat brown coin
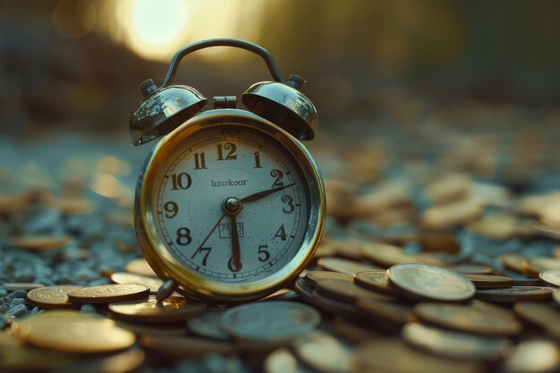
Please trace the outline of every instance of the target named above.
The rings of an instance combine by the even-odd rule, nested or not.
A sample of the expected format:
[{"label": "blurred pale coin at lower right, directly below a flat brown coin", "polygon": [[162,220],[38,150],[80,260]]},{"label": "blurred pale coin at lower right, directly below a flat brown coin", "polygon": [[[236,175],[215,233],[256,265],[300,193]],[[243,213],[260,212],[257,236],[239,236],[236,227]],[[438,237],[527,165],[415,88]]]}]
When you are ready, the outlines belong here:
[{"label": "blurred pale coin at lower right, directly below a flat brown coin", "polygon": [[451,332],[415,322],[403,326],[401,335],[413,347],[459,360],[503,360],[511,347],[503,337]]}]

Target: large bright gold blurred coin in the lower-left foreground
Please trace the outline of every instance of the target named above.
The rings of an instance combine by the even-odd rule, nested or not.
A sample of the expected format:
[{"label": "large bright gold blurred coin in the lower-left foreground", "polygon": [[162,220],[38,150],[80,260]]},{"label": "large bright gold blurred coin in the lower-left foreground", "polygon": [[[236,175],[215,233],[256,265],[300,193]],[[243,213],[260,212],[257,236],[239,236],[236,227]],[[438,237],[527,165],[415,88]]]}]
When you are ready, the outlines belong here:
[{"label": "large bright gold blurred coin in the lower-left foreground", "polygon": [[47,311],[17,320],[12,332],[25,343],[62,352],[113,352],[132,346],[135,340],[113,320],[72,310]]}]

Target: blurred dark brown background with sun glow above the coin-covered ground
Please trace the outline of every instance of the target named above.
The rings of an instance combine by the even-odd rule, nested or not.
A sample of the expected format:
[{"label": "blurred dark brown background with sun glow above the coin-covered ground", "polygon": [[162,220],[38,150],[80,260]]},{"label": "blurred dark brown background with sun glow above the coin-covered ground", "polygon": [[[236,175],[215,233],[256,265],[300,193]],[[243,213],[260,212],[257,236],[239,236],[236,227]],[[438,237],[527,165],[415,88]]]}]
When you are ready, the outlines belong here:
[{"label": "blurred dark brown background with sun glow above the coin-covered ground", "polygon": [[[420,156],[514,186],[558,168],[560,4],[554,1],[4,0],[0,6],[4,160],[20,151],[15,144],[68,135],[122,141],[122,151],[132,152],[128,119],[140,102],[140,81],[160,83],[178,48],[226,37],[266,47],[285,77],[301,74],[319,113],[311,147],[328,158],[334,155],[321,153],[325,144],[364,143],[365,156],[377,163],[372,179]],[[217,47],[183,59],[174,83],[206,97],[240,97],[266,80],[259,57]],[[147,151],[133,154],[140,159]],[[338,171],[331,164],[326,174]]]}]

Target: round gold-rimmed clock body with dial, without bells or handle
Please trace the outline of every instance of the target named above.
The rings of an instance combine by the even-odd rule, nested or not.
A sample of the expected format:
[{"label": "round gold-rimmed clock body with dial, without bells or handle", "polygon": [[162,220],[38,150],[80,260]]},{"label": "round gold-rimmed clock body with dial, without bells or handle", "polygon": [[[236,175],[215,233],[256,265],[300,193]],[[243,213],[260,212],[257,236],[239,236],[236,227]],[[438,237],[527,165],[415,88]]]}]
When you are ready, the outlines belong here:
[{"label": "round gold-rimmed clock body with dial, without bells or handle", "polygon": [[[231,198],[241,202],[239,263],[224,207]],[[312,259],[324,219],[310,153],[243,110],[203,112],[166,135],[137,186],[135,225],[148,263],[181,292],[209,301],[249,301],[284,287]]]}]

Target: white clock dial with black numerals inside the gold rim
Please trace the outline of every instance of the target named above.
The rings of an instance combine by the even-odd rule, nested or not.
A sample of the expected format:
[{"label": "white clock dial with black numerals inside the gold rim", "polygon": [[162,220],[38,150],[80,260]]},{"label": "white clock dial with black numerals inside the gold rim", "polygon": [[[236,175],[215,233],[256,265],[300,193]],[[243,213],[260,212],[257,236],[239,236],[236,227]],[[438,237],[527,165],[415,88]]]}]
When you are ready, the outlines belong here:
[{"label": "white clock dial with black numerals inside the gold rim", "polygon": [[281,142],[235,124],[204,128],[159,169],[152,210],[174,259],[212,281],[275,273],[300,250],[309,185]]}]

